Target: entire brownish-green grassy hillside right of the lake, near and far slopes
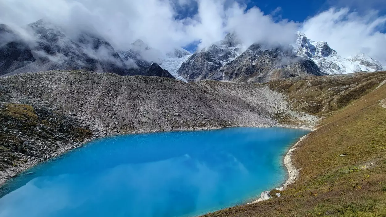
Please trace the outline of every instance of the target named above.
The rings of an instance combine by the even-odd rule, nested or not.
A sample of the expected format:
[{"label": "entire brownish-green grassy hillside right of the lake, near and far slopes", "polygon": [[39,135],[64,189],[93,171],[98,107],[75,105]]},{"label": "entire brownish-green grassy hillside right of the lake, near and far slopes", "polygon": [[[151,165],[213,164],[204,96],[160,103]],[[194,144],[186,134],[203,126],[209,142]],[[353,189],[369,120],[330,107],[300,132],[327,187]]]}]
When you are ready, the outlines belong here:
[{"label": "entire brownish-green grassy hillside right of the lake, near and far slopes", "polygon": [[[271,83],[289,95],[295,108],[313,99],[322,100],[325,108],[304,109],[327,118],[294,153],[300,178],[281,192],[282,197],[206,216],[386,216],[386,85],[376,89],[385,74],[357,73],[347,81],[327,76]],[[294,86],[319,81],[308,88]],[[329,92],[334,88],[342,91]]]}]

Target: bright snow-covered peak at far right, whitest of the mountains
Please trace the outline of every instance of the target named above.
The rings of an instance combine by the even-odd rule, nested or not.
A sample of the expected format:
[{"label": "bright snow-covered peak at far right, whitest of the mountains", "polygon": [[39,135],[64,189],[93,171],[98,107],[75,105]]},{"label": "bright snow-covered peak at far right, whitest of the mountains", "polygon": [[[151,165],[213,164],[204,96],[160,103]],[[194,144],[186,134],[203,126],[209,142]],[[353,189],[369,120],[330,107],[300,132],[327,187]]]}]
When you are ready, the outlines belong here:
[{"label": "bright snow-covered peak at far right, whitest of the mountains", "polygon": [[381,63],[365,54],[345,59],[331,49],[327,42],[307,39],[306,35],[301,32],[298,32],[297,36],[294,46],[296,55],[312,60],[324,73],[347,74],[358,71],[385,70]]}]

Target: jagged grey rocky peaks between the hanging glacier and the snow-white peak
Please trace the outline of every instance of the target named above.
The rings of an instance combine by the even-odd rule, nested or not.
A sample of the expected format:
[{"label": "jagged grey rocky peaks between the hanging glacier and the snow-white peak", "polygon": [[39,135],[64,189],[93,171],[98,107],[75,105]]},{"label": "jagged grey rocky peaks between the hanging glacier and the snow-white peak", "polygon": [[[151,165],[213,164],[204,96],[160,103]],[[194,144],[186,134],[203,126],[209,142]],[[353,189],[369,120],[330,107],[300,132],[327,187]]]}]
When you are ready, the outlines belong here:
[{"label": "jagged grey rocky peaks between the hanging glacier and the snow-white peak", "polygon": [[188,81],[265,82],[298,75],[325,75],[312,61],[296,56],[291,47],[263,48],[252,44],[239,54],[241,43],[234,34],[193,54],[179,68]]}]

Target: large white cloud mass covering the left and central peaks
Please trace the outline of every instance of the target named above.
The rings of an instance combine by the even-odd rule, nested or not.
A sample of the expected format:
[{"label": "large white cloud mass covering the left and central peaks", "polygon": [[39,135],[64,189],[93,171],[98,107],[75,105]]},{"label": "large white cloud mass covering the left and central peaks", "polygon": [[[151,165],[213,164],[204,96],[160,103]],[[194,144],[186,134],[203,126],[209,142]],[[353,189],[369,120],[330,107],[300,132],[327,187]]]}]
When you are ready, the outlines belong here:
[{"label": "large white cloud mass covering the left and central peaks", "polygon": [[[176,8],[198,5],[198,11],[185,19],[176,19]],[[0,23],[26,25],[46,17],[52,22],[78,31],[92,26],[117,49],[124,49],[136,39],[168,52],[200,41],[207,46],[236,31],[248,42],[287,42],[296,24],[282,20],[275,23],[259,8],[245,12],[234,0],[2,0]]]}]

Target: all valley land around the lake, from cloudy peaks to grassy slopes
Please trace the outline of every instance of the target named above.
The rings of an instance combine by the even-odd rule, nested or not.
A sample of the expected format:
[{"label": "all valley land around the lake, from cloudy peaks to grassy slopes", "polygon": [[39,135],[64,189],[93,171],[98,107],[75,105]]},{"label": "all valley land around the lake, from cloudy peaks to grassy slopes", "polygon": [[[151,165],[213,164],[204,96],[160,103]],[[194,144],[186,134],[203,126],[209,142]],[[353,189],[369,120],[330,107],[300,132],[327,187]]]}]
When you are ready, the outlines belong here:
[{"label": "all valley land around the lake, from cloudy peaks to grassy slopes", "polygon": [[44,19],[22,31],[0,25],[0,185],[105,136],[277,126],[312,131],[284,160],[294,182],[205,216],[386,215],[386,68],[366,54],[301,32],[164,54]]}]

